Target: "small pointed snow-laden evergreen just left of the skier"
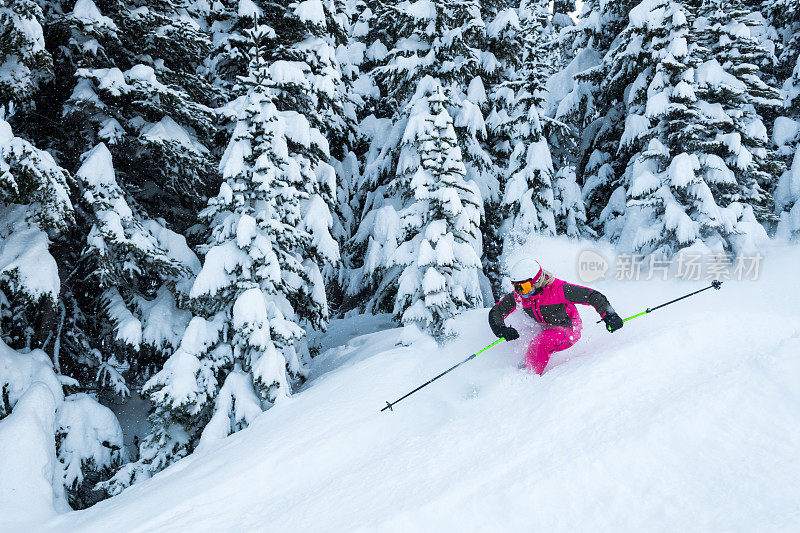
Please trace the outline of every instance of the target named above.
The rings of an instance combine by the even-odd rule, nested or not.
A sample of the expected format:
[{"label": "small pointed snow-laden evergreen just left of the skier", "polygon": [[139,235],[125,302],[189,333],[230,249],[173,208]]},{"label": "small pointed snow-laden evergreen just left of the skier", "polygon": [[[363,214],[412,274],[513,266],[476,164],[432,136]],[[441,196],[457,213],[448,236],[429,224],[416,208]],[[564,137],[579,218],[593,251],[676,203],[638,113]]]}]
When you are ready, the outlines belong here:
[{"label": "small pointed snow-laden evergreen just left of the skier", "polygon": [[447,319],[482,303],[480,282],[480,191],[466,181],[447,97],[424,78],[407,107],[396,178],[389,190],[404,207],[401,233],[389,259],[396,267],[394,315],[436,337],[447,336]]}]

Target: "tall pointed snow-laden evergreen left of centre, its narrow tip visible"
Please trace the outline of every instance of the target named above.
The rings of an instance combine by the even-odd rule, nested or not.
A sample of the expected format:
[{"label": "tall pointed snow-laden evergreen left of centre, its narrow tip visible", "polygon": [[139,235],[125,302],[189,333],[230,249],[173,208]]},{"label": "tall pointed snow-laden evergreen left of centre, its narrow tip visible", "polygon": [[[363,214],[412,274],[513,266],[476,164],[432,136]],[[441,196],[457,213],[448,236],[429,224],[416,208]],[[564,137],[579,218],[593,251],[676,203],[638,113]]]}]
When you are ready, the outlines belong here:
[{"label": "tall pointed snow-laden evergreen left of centre, its narrow tip visible", "polygon": [[318,176],[288,148],[319,134],[308,123],[305,131],[287,126],[302,115],[280,114],[266,92],[268,67],[260,68],[223,157],[225,181],[205,211],[213,241],[192,297],[196,307],[227,309],[233,356],[251,370],[261,396],[274,401],[302,374],[297,322],[322,326],[327,319],[320,266],[338,257],[330,213],[314,192]]}]

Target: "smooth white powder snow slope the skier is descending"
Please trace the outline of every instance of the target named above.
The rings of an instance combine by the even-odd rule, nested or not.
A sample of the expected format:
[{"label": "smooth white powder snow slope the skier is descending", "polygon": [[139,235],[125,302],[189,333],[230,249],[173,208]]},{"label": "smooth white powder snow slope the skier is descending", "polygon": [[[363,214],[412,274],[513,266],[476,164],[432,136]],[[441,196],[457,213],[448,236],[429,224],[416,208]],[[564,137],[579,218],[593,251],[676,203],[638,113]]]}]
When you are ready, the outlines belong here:
[{"label": "smooth white powder snow slope the skier is descending", "polygon": [[[398,345],[396,329],[347,341],[385,317],[339,321],[326,341],[347,342],[316,359],[305,390],[217,448],[41,527],[796,530],[798,259],[771,252],[760,281],[726,282],[615,334],[581,307],[581,342],[544,376],[517,368],[528,328],[394,412],[379,410],[492,341],[486,311],[460,318],[444,347]],[[703,285],[595,284],[623,316]]]}]

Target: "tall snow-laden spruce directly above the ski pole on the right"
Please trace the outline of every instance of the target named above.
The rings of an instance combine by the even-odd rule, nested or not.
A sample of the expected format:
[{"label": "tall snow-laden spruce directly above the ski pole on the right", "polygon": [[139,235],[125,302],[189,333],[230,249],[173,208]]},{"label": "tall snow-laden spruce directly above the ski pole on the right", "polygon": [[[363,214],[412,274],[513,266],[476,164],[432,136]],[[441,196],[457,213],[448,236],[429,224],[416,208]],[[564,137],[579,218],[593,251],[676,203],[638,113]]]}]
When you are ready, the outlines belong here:
[{"label": "tall snow-laden spruce directly above the ski pole on the right", "polygon": [[[619,190],[627,201],[614,205],[612,196],[605,209],[619,209],[622,216],[609,213],[605,222],[607,234],[637,252],[670,255],[702,242],[721,224],[698,172],[702,114],[694,94],[694,51],[686,9],[654,0],[631,11],[630,24],[609,52],[605,74],[626,84],[617,153],[626,162]],[[644,68],[631,73],[634,60]]]}]

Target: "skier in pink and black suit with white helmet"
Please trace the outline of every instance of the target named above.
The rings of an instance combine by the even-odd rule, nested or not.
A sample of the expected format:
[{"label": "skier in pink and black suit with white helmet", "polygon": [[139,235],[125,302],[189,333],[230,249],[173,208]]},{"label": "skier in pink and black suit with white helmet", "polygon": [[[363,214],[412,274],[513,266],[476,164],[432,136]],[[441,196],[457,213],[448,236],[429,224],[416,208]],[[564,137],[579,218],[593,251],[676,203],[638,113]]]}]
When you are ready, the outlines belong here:
[{"label": "skier in pink and black suit with white helmet", "polygon": [[489,311],[489,326],[506,341],[519,338],[519,332],[505,324],[505,318],[518,306],[542,324],[544,329],[531,340],[525,365],[539,375],[544,373],[553,352],[566,350],[581,338],[581,317],[575,304],[591,305],[610,332],[622,327],[622,319],[608,299],[598,291],[572,285],[542,269],[538,261],[523,259],[511,269],[514,291],[506,294]]}]

